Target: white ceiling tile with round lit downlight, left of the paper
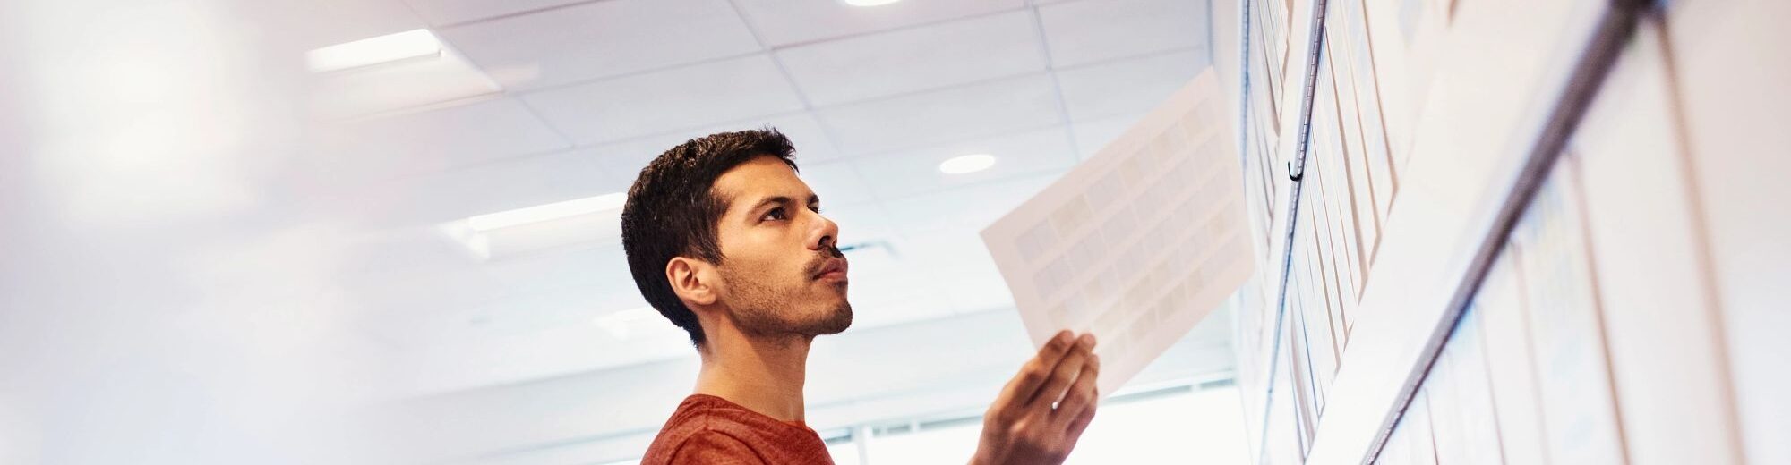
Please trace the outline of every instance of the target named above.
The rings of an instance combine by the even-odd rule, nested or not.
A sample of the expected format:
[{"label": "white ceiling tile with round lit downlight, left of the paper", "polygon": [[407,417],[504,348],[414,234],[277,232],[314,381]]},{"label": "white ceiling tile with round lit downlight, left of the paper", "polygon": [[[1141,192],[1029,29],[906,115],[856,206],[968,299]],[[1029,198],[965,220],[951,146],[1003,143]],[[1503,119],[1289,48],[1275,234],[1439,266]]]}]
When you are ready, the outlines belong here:
[{"label": "white ceiling tile with round lit downlight, left of the paper", "polygon": [[[996,165],[974,173],[944,173],[938,163],[956,156],[990,154]],[[928,191],[989,181],[1060,172],[1076,165],[1076,150],[1064,127],[1048,127],[996,138],[955,141],[919,150],[901,150],[851,159],[878,199],[892,200]]]}]

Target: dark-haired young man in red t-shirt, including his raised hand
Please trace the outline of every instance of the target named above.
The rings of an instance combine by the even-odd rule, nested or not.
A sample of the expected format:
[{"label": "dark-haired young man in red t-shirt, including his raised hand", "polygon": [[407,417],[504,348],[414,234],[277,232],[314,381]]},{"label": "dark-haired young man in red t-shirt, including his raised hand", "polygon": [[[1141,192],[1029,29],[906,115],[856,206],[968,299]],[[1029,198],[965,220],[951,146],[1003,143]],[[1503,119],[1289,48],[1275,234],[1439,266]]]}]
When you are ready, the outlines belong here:
[{"label": "dark-haired young man in red t-shirt, including his raised hand", "polygon": [[[702,356],[641,463],[833,463],[802,422],[810,342],[853,324],[840,231],[776,129],[686,141],[641,170],[621,247]],[[1062,463],[1094,418],[1094,336],[1058,333],[983,415],[971,463]]]}]

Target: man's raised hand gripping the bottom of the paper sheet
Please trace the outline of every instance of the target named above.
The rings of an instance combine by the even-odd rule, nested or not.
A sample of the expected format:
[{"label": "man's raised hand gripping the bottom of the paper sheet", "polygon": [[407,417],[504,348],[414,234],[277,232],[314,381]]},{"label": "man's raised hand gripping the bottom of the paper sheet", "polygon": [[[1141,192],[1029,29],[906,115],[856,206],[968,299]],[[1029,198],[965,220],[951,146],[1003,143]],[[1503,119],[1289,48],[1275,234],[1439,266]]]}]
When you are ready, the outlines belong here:
[{"label": "man's raised hand gripping the bottom of the paper sheet", "polygon": [[1094,420],[1094,334],[1057,333],[983,413],[973,465],[1064,463]]}]

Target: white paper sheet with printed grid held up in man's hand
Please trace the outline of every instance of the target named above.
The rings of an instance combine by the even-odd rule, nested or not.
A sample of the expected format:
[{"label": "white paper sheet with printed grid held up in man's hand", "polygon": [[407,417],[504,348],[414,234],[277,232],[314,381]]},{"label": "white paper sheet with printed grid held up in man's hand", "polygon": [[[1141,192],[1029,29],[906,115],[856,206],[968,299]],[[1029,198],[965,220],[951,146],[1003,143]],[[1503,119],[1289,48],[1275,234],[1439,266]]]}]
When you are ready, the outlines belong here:
[{"label": "white paper sheet with printed grid held up in man's hand", "polygon": [[1093,331],[1112,393],[1252,274],[1230,118],[1213,70],[983,229],[1033,345]]}]

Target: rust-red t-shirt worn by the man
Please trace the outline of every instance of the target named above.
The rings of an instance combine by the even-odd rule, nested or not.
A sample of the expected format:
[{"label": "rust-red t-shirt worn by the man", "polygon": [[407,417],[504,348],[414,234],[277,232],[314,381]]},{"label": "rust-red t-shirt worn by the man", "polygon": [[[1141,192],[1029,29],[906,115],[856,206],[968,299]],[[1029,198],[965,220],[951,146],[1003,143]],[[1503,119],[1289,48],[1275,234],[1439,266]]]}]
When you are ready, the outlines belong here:
[{"label": "rust-red t-shirt worn by the man", "polygon": [[672,411],[641,465],[833,463],[801,420],[783,422],[727,399],[693,393]]}]

